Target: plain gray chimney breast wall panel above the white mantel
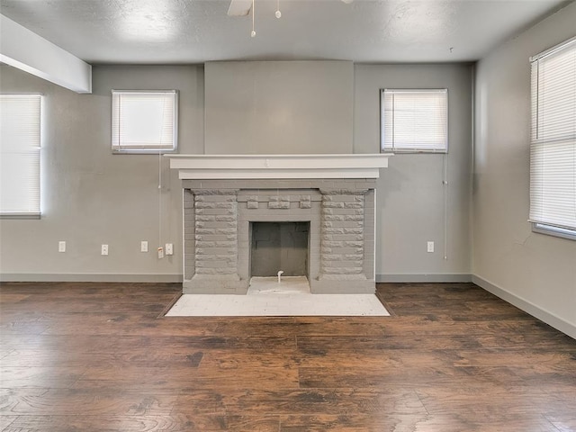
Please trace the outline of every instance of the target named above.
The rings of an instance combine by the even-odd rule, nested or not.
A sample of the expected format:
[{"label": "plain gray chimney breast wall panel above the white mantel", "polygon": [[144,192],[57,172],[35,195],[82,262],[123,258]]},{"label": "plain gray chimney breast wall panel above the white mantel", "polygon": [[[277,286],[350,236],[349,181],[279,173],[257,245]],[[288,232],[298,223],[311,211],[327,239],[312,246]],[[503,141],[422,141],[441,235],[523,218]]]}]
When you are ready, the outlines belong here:
[{"label": "plain gray chimney breast wall panel above the white mantel", "polygon": [[351,61],[205,64],[207,154],[352,153]]}]

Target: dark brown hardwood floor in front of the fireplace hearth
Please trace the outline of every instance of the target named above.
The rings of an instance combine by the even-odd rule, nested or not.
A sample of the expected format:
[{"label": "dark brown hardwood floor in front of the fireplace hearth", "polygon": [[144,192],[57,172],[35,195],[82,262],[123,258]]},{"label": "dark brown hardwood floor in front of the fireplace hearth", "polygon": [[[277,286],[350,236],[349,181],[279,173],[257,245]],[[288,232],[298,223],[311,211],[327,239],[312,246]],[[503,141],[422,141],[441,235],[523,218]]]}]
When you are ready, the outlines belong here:
[{"label": "dark brown hardwood floor in front of the fireplace hearth", "polygon": [[387,318],[163,318],[179,290],[3,284],[0,430],[576,430],[576,340],[473,284],[379,284]]}]

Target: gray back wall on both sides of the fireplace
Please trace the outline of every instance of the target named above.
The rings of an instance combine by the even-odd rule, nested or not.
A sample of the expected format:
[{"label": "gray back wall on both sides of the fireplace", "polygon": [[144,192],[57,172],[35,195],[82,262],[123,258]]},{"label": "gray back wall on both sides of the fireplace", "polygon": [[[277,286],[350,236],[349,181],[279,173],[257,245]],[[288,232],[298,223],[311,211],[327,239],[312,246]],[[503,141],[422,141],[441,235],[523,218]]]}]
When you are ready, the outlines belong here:
[{"label": "gray back wall on both sides of the fireplace", "polygon": [[[315,71],[319,67],[313,64],[316,62],[297,63],[299,67],[309,64]],[[349,63],[342,63],[346,67],[341,69],[346,70]],[[94,94],[74,94],[12,67],[1,70],[3,92],[41,92],[46,95],[47,113],[46,146],[42,150],[43,216],[41,220],[0,220],[2,277],[130,280],[168,275],[180,278],[180,183],[164,160],[165,186],[158,207],[157,157],[112,155],[110,90],[178,89],[180,152],[202,153],[203,67],[97,66],[94,67]],[[348,132],[342,131],[343,136],[348,133],[351,137],[354,130],[354,137],[353,141],[347,139],[347,148],[336,146],[335,153],[349,152],[352,142],[356,153],[379,152],[380,88],[430,86],[449,90],[447,211],[445,213],[442,184],[444,156],[392,157],[390,167],[382,170],[378,181],[375,263],[378,280],[470,277],[471,70],[467,65],[354,67],[356,84],[344,110],[355,110],[354,124],[348,124],[345,128]],[[259,140],[257,148],[266,148],[271,153],[284,150],[277,145],[267,148],[267,144],[267,139]],[[306,152],[326,152],[326,144],[311,146]],[[235,148],[228,151],[251,153],[254,151],[251,146],[252,143],[237,141]],[[211,151],[207,149],[207,152]],[[158,260],[155,254],[160,210],[160,244],[175,244],[175,256],[164,260]],[[445,237],[447,259],[444,259]],[[65,254],[58,253],[58,240],[67,240]],[[148,240],[148,254],[139,252],[140,240]],[[428,240],[436,242],[433,254],[426,252]],[[110,245],[108,257],[100,256],[103,243]]]}]

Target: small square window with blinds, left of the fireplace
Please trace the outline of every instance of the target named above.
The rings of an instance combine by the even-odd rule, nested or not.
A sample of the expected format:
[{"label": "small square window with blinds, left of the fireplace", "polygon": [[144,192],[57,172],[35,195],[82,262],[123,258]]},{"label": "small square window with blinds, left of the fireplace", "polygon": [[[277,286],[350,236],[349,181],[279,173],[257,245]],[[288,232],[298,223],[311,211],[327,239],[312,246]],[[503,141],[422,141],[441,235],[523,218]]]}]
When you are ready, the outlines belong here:
[{"label": "small square window with blinds, left of the fireplace", "polygon": [[112,90],[112,151],[174,151],[177,137],[177,92]]}]

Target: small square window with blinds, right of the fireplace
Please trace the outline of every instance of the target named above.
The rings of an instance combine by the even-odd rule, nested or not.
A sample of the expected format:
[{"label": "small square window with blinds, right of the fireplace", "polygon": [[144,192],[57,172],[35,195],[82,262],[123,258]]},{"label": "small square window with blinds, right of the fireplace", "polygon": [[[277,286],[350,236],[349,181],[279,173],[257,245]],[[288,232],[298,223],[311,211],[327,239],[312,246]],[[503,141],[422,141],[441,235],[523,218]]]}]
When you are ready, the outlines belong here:
[{"label": "small square window with blinds, right of the fireplace", "polygon": [[384,89],[381,94],[381,148],[392,152],[448,149],[448,90]]}]

